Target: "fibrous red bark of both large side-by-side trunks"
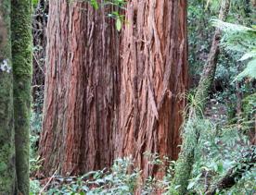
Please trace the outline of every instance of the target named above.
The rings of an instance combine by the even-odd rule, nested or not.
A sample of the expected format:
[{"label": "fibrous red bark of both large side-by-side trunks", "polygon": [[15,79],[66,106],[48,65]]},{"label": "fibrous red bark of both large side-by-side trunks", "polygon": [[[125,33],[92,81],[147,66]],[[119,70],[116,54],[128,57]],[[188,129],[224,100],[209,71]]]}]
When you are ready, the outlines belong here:
[{"label": "fibrous red bark of both large side-by-side trunks", "polygon": [[161,177],[143,153],[178,156],[186,0],[127,2],[121,39],[105,15],[84,2],[49,2],[40,141],[45,174],[58,168],[79,174],[132,155],[144,177]]}]

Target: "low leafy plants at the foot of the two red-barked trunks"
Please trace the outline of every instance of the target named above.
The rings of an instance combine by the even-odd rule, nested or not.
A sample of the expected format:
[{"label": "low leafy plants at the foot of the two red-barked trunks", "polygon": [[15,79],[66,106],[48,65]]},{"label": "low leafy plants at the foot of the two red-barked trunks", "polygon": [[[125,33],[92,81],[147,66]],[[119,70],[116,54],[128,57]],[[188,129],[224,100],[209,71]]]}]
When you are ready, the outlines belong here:
[{"label": "low leafy plants at the foot of the two red-barked trunks", "polygon": [[[148,154],[147,154],[148,155]],[[157,154],[151,156],[156,157]],[[156,164],[162,161],[154,159]],[[152,162],[154,163],[154,162]],[[130,171],[132,170],[132,171]],[[60,177],[49,178],[50,183],[39,186],[37,180],[32,181],[31,194],[134,194],[135,190],[141,188],[141,194],[151,194],[160,188],[167,188],[168,182],[147,178],[145,185],[139,182],[141,171],[134,167],[132,158],[117,159],[108,171],[107,169],[92,171],[82,177]],[[44,187],[43,187],[44,186]],[[35,188],[34,188],[35,187]]]}]

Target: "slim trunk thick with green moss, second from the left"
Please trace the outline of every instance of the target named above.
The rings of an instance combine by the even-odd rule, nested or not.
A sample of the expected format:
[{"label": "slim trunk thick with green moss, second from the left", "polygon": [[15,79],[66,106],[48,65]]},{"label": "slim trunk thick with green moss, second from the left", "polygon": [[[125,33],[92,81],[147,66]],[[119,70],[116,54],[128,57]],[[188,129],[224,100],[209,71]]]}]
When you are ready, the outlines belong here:
[{"label": "slim trunk thick with green moss, second from the left", "polygon": [[19,191],[29,194],[32,1],[12,0],[11,4],[16,171]]}]

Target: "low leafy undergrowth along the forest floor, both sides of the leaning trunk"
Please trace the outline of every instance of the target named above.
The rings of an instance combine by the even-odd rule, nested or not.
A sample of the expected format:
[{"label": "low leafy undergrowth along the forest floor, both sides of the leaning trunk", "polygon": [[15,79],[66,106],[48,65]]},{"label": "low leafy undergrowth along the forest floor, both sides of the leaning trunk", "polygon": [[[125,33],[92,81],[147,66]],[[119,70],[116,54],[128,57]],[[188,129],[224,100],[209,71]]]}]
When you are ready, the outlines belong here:
[{"label": "low leafy undergrowth along the forest floor, both sides of the leaning trunk", "polygon": [[[204,194],[227,172],[234,168],[243,166],[241,159],[247,157],[247,153],[254,152],[255,146],[251,146],[249,138],[237,126],[218,127],[211,120],[204,119],[200,125],[205,127],[198,140],[195,153],[196,162],[189,185],[187,187],[191,194]],[[54,176],[45,179],[46,182],[32,181],[31,194],[134,194],[136,190],[140,194],[175,194],[178,186],[173,187],[173,170],[175,162],[167,158],[160,159],[156,153],[145,153],[151,164],[162,165],[166,168],[167,175],[161,180],[153,177],[147,178],[142,183],[141,171],[134,167],[133,159],[117,159],[110,170],[103,169],[89,172],[82,177],[60,177]],[[169,165],[165,167],[166,162]],[[252,166],[252,167],[251,167]],[[47,182],[49,181],[50,182]],[[218,191],[217,194],[255,194],[256,193],[256,165],[248,165],[248,170],[237,178],[237,184],[231,189]],[[172,189],[170,187],[172,186]],[[169,191],[168,191],[169,190]],[[172,191],[172,192],[171,192]]]}]

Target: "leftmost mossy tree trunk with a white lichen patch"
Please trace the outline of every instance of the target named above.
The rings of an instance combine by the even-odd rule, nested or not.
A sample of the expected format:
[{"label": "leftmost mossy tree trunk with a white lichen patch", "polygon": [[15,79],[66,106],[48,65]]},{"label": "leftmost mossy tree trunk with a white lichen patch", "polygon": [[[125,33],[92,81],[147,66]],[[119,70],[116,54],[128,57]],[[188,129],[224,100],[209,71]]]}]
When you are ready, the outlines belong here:
[{"label": "leftmost mossy tree trunk with a white lichen patch", "polygon": [[0,0],[0,194],[15,192],[10,0]]}]

